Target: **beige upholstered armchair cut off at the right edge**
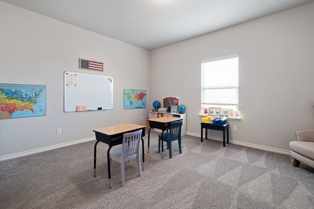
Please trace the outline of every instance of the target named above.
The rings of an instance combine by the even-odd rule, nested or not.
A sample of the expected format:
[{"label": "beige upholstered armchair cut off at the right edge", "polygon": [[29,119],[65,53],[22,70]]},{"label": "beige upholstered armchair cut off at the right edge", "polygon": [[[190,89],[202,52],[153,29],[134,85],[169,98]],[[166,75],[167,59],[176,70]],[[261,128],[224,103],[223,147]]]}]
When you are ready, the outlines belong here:
[{"label": "beige upholstered armchair cut off at the right edge", "polygon": [[295,136],[296,141],[290,141],[292,166],[298,167],[301,162],[314,167],[314,130],[296,131]]}]

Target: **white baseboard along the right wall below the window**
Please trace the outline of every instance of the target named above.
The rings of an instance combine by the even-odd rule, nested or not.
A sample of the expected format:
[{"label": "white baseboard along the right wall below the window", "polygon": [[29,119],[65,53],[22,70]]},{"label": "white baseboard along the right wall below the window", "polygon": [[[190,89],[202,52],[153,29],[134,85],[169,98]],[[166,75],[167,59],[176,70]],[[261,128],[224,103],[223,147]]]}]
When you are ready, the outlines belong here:
[{"label": "white baseboard along the right wall below the window", "polygon": [[[191,133],[191,132],[186,132],[186,135],[194,136],[194,137],[201,137],[201,134],[195,134],[195,133]],[[217,138],[217,137],[207,136],[207,138],[212,139],[212,140],[221,141],[221,142],[223,141],[222,138]],[[205,139],[205,135],[203,135],[203,139]],[[256,148],[256,149],[262,149],[262,150],[270,151],[270,152],[281,153],[281,154],[285,154],[285,155],[290,155],[290,150],[277,149],[277,148],[273,148],[273,147],[267,147],[267,146],[262,146],[262,145],[258,145],[258,144],[251,144],[251,143],[235,141],[235,140],[230,140],[230,139],[229,139],[229,143],[238,144],[238,145],[247,146],[247,147],[252,147],[252,148]]]}]

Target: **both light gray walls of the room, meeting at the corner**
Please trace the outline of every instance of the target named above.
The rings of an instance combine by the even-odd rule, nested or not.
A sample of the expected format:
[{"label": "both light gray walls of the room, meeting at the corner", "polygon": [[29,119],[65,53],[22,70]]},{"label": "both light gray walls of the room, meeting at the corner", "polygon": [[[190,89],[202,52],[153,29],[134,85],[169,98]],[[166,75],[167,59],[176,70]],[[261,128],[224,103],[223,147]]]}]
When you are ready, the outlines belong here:
[{"label": "both light gray walls of the room, meeting at the corner", "polygon": [[[0,83],[47,85],[47,116],[0,120],[0,160],[92,139],[92,129],[145,124],[152,102],[180,96],[187,132],[200,135],[201,60],[239,55],[235,142],[289,150],[294,132],[314,128],[314,3],[151,52],[0,1]],[[79,70],[78,58],[105,63]],[[63,113],[63,71],[114,77],[114,109]],[[146,89],[146,109],[123,110],[123,89]],[[56,128],[62,134],[56,135]],[[221,138],[220,132],[210,132]]]}]

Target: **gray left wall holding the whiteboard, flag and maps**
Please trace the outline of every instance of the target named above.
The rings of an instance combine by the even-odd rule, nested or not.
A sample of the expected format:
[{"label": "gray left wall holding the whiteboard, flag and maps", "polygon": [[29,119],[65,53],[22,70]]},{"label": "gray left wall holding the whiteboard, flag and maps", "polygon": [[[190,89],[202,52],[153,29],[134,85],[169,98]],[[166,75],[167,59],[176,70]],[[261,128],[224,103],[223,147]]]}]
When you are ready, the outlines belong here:
[{"label": "gray left wall holding the whiteboard, flag and maps", "polygon": [[[146,109],[123,109],[123,89],[147,90],[150,52],[0,1],[0,83],[47,85],[47,116],[0,120],[0,159],[94,137],[95,128],[145,125]],[[79,70],[78,58],[104,62]],[[63,72],[113,76],[113,110],[63,113]],[[56,128],[62,134],[56,135]],[[92,148],[91,148],[92,149]]]}]

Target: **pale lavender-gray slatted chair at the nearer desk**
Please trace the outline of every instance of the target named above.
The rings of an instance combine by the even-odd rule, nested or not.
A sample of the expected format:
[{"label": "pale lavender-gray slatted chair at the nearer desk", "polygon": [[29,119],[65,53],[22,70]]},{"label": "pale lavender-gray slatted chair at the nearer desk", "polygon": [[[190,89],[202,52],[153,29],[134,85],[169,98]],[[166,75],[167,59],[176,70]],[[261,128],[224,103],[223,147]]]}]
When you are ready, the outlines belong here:
[{"label": "pale lavender-gray slatted chair at the nearer desk", "polygon": [[122,147],[110,150],[110,171],[112,160],[121,163],[121,180],[122,186],[126,186],[125,165],[127,161],[136,157],[138,175],[142,176],[141,161],[140,161],[140,144],[142,130],[123,135]]}]

